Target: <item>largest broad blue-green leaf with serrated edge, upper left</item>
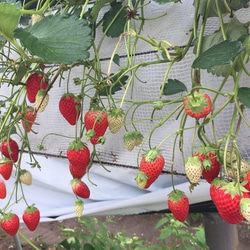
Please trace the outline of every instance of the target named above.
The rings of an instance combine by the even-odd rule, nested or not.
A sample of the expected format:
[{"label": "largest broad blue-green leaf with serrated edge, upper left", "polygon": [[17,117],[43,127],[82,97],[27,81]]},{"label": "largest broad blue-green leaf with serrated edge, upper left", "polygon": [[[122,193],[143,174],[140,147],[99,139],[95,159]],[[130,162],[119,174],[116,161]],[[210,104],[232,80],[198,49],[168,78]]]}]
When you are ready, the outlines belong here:
[{"label": "largest broad blue-green leaf with serrated edge, upper left", "polygon": [[89,57],[91,29],[76,15],[46,16],[30,30],[16,29],[15,36],[32,55],[45,62],[72,64]]}]

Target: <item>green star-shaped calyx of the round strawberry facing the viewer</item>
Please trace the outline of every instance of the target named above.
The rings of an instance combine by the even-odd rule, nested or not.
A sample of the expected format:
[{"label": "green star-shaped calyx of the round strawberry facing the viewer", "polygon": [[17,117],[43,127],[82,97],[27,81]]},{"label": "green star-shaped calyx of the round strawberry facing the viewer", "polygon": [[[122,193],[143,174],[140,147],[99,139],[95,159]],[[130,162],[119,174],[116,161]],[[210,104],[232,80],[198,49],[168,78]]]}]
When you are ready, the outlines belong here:
[{"label": "green star-shaped calyx of the round strawberry facing the viewer", "polygon": [[185,109],[190,109],[192,113],[197,112],[198,114],[201,113],[201,111],[205,110],[205,107],[209,106],[208,98],[204,96],[205,92],[198,92],[195,91],[192,94],[188,95],[188,99],[186,101],[186,107]]}]

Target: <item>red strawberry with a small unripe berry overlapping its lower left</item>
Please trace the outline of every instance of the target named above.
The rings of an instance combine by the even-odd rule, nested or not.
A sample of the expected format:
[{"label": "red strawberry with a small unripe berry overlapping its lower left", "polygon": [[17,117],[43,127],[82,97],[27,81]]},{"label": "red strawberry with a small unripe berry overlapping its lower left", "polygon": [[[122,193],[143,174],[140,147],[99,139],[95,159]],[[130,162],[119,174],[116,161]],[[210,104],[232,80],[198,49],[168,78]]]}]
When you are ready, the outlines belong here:
[{"label": "red strawberry with a small unripe berry overlapping its lower left", "polygon": [[143,155],[140,162],[140,171],[148,176],[145,189],[149,188],[159,177],[164,164],[165,160],[157,149],[150,149]]}]

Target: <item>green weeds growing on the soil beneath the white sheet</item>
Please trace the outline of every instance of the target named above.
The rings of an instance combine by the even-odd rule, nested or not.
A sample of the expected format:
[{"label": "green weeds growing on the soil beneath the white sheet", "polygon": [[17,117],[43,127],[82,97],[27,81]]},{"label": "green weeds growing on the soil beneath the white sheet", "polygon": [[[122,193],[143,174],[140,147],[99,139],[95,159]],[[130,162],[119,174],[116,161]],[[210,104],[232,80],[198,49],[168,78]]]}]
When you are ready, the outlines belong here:
[{"label": "green weeds growing on the soil beneath the white sheet", "polygon": [[[113,234],[107,230],[109,223],[115,223],[109,217],[105,222],[97,218],[81,217],[79,226],[61,229],[66,236],[56,245],[56,249],[67,250],[77,249],[100,249],[100,250],[125,250],[125,249],[208,249],[205,241],[203,227],[191,227],[188,222],[179,222],[174,219],[172,214],[165,216],[158,221],[155,230],[160,232],[158,244],[150,244],[146,239],[138,236],[129,237],[129,231],[117,232]],[[149,228],[147,230],[150,230]],[[171,246],[167,245],[167,240],[172,239]]]}]

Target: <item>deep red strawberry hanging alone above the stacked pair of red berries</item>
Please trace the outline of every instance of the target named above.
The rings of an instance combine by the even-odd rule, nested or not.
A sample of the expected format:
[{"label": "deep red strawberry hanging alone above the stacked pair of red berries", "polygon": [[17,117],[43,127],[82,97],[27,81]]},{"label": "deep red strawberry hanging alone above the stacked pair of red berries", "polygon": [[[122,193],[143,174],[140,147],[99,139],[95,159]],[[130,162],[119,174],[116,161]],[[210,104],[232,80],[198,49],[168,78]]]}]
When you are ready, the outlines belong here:
[{"label": "deep red strawberry hanging alone above the stacked pair of red berries", "polygon": [[72,93],[64,94],[59,101],[59,110],[69,124],[75,125],[81,114],[79,98]]}]

